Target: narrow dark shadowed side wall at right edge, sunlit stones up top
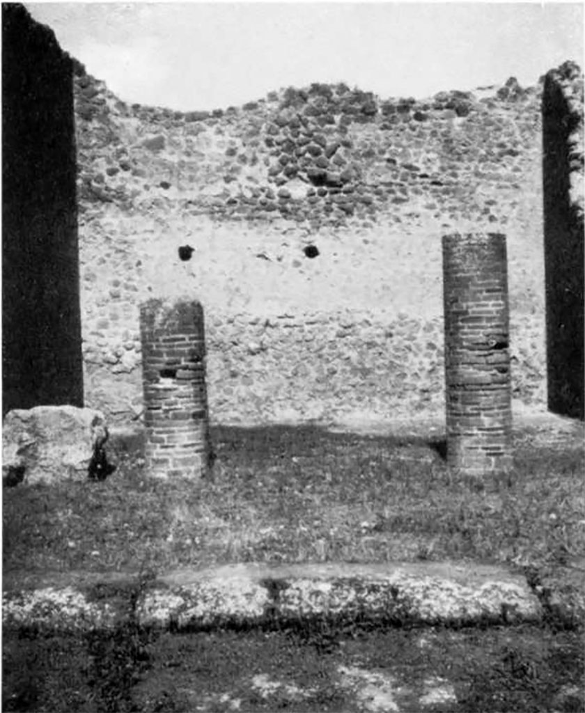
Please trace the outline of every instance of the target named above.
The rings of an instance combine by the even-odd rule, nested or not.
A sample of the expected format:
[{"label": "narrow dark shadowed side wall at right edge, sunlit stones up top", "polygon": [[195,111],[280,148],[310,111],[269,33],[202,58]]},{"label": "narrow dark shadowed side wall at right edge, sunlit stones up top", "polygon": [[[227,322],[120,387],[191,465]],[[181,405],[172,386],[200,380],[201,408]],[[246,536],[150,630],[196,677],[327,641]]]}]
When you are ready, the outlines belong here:
[{"label": "narrow dark shadowed side wall at right edge, sunlit stones up top", "polygon": [[546,74],[542,126],[548,404],[583,419],[583,76],[576,64]]}]

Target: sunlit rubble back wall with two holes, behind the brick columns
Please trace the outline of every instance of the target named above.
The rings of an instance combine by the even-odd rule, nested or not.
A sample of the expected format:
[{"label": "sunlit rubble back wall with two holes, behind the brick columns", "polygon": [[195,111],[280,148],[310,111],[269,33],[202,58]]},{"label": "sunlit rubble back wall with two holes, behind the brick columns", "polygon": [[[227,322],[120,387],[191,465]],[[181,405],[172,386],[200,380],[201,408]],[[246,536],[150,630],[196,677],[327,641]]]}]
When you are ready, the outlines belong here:
[{"label": "sunlit rubble back wall with two holes, behind the brick columns", "polygon": [[442,409],[452,230],[506,233],[512,392],[544,403],[540,84],[191,113],[75,92],[88,404],[141,418],[138,304],[176,289],[205,309],[212,421]]}]

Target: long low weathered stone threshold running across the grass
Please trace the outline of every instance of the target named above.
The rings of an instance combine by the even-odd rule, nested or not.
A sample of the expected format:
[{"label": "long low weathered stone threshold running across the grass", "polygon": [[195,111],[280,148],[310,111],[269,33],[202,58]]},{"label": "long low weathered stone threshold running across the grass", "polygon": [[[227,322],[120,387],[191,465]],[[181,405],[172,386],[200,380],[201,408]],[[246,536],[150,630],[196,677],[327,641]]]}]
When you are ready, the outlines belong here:
[{"label": "long low weathered stone threshold running across the grass", "polygon": [[4,626],[173,631],[315,619],[400,624],[517,624],[544,612],[523,575],[461,563],[260,564],[136,574],[71,573],[4,582]]}]

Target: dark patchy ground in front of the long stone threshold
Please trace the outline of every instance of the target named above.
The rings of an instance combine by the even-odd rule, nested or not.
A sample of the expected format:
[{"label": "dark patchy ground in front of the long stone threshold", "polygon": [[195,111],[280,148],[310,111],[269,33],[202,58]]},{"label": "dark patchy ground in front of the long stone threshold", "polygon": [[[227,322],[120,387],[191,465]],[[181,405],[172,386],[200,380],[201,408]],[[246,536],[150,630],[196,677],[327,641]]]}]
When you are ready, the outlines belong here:
[{"label": "dark patchy ground in front of the long stone threshold", "polygon": [[582,712],[583,637],[535,627],[114,632],[3,641],[4,712]]}]

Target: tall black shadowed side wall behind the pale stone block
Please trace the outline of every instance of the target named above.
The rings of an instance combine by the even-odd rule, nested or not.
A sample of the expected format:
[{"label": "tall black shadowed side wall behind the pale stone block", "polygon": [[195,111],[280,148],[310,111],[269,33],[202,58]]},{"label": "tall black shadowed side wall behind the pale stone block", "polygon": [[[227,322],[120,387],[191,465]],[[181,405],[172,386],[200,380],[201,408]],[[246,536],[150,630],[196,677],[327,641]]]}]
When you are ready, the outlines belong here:
[{"label": "tall black shadowed side wall behind the pale stone block", "polygon": [[73,61],[2,4],[3,413],[83,406]]}]

